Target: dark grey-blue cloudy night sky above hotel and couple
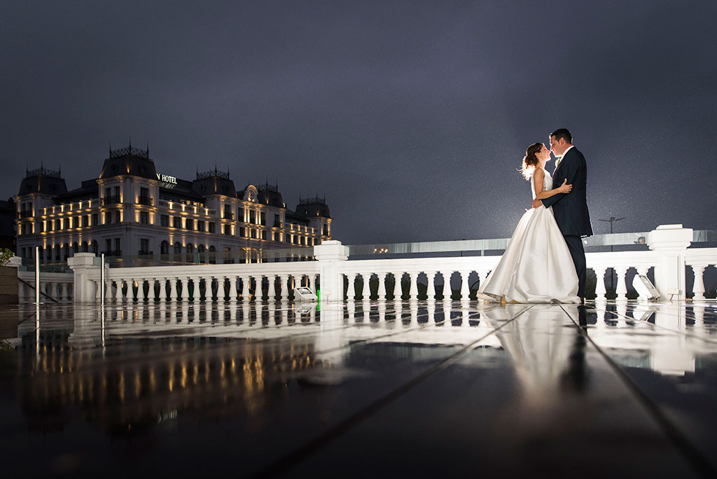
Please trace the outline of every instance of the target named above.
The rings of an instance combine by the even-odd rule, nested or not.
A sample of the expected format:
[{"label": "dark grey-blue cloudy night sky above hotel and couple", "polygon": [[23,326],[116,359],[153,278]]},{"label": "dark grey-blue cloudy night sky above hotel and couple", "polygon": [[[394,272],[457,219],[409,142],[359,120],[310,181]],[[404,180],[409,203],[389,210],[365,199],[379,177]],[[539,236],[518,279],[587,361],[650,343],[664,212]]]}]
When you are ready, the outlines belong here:
[{"label": "dark grey-blue cloudy night sky above hotel and couple", "polygon": [[0,196],[26,165],[326,194],[347,244],[508,237],[565,126],[589,207],[717,228],[717,1],[3,1]]}]

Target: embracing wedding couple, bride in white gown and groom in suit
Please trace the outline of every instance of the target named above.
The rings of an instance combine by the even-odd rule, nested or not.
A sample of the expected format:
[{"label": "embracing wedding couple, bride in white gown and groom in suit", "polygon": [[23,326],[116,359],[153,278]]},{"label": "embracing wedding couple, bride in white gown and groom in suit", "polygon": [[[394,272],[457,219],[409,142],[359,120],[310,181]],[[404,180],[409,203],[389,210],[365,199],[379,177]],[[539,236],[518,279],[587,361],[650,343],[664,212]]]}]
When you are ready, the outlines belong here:
[{"label": "embracing wedding couple, bride in white gown and groom in suit", "polygon": [[[553,176],[546,171],[556,156]],[[582,237],[592,235],[587,208],[587,164],[565,128],[528,146],[521,167],[531,182],[533,207],[518,222],[498,266],[478,298],[501,303],[584,303],[587,267]],[[553,186],[556,186],[554,188]]]}]

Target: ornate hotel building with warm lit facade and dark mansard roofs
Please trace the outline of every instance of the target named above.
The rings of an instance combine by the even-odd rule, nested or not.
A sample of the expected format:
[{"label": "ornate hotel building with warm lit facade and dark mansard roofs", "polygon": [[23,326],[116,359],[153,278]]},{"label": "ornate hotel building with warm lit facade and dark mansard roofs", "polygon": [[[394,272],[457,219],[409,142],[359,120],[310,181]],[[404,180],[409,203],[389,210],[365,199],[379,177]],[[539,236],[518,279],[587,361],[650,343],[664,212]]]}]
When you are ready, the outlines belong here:
[{"label": "ornate hotel building with warm lit facade and dark mansard roofs", "polygon": [[179,179],[158,172],[149,149],[131,144],[110,150],[99,178],[78,189],[67,191],[60,171],[27,171],[14,199],[16,254],[34,257],[37,246],[44,263],[76,252],[147,259],[223,252],[254,262],[266,250],[308,249],[331,239],[323,199],[300,199],[292,211],[274,185],[237,191],[229,173],[217,169]]}]

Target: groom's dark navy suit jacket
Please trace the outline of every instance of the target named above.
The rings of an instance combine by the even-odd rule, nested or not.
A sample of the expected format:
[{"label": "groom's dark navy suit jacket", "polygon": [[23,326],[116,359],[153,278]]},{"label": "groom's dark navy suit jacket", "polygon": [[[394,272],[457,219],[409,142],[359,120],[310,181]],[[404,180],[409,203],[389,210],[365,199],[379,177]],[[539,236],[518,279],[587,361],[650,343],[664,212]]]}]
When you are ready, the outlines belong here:
[{"label": "groom's dark navy suit jacket", "polygon": [[555,221],[563,236],[592,236],[590,213],[587,209],[587,164],[585,157],[573,147],[565,153],[553,174],[553,187],[566,179],[573,185],[570,193],[559,193],[541,200],[546,208],[553,207]]}]

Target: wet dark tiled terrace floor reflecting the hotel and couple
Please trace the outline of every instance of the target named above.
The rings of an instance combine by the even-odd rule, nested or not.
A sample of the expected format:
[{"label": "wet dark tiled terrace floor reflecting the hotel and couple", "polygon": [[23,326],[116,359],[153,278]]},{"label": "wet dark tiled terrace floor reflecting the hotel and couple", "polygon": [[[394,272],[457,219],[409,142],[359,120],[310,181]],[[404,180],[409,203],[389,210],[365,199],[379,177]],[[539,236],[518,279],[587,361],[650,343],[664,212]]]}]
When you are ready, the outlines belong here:
[{"label": "wet dark tiled terrace floor reflecting the hotel and couple", "polygon": [[717,303],[0,310],[4,473],[713,477]]}]

